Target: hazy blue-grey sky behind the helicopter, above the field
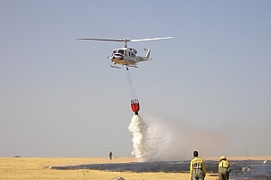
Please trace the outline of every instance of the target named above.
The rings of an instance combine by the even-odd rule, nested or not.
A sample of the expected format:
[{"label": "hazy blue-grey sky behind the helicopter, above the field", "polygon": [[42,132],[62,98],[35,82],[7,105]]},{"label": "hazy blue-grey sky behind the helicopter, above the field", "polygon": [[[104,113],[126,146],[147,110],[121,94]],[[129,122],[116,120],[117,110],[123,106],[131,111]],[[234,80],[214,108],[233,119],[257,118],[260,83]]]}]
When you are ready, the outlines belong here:
[{"label": "hazy blue-grey sky behind the helicopter, above the field", "polygon": [[171,153],[271,156],[271,1],[0,0],[0,23],[0,157],[131,156],[126,68],[107,58],[124,44],[76,39],[167,36],[128,46],[152,49],[130,73]]}]

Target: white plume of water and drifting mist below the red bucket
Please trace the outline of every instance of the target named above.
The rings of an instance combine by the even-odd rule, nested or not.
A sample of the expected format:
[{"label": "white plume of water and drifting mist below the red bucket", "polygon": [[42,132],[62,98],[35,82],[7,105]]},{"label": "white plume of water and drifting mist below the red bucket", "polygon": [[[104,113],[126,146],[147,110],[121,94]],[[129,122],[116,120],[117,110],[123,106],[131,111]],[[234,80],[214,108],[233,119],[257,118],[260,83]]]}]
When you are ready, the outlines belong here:
[{"label": "white plume of water and drifting mist below the red bucket", "polygon": [[221,156],[225,148],[220,141],[226,137],[211,130],[199,130],[182,121],[161,121],[148,117],[147,121],[134,115],[128,129],[133,135],[133,151],[138,162],[188,160],[192,151],[202,157]]}]

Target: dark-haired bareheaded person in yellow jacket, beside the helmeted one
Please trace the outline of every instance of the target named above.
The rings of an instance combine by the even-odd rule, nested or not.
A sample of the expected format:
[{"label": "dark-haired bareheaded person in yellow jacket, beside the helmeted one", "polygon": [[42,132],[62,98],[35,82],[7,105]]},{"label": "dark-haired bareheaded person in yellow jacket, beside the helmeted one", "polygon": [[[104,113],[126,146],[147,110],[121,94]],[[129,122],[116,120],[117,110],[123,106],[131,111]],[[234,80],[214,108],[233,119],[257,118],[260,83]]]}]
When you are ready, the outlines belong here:
[{"label": "dark-haired bareheaded person in yellow jacket, beside the helmeted one", "polygon": [[193,159],[190,163],[190,175],[192,180],[204,180],[206,168],[203,160],[199,157],[198,151],[193,152]]}]

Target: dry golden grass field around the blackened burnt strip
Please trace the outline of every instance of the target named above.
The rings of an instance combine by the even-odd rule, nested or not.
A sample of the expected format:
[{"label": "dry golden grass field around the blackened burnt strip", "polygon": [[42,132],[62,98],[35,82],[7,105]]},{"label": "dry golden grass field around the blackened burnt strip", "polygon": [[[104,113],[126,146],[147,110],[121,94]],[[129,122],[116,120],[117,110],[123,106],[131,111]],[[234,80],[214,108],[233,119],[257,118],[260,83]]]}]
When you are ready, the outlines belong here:
[{"label": "dry golden grass field around the blackened burnt strip", "polygon": [[[218,159],[209,157],[206,159]],[[205,158],[204,158],[205,159]],[[271,157],[229,157],[229,159],[266,159]],[[71,166],[82,164],[136,162],[134,157],[0,157],[0,179],[100,179],[110,180],[121,176],[126,180],[190,179],[189,174],[181,173],[132,173],[104,172],[98,170],[56,170],[49,166]],[[218,179],[207,175],[206,180]]]}]

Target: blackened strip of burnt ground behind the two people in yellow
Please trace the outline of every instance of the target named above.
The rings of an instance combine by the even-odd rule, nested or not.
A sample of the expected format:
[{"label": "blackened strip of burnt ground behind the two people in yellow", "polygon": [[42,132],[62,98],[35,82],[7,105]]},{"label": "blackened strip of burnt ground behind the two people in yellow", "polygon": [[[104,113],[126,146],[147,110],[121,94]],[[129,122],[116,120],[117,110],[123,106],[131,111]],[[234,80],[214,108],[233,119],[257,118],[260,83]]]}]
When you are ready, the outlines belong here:
[{"label": "blackened strip of burnt ground behind the two people in yellow", "polygon": [[[204,161],[206,170],[210,174],[218,173],[219,161]],[[231,166],[231,179],[271,179],[271,163],[262,160],[235,160],[229,161]],[[161,161],[142,163],[117,163],[117,164],[89,164],[78,166],[53,166],[54,169],[94,169],[101,171],[135,173],[164,172],[164,173],[189,173],[190,161]]]}]

